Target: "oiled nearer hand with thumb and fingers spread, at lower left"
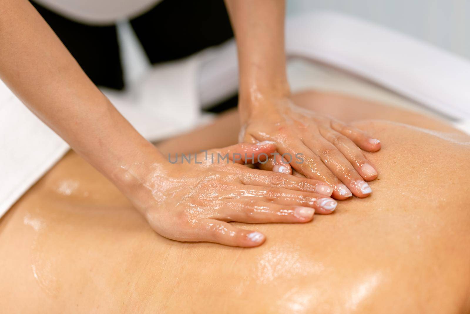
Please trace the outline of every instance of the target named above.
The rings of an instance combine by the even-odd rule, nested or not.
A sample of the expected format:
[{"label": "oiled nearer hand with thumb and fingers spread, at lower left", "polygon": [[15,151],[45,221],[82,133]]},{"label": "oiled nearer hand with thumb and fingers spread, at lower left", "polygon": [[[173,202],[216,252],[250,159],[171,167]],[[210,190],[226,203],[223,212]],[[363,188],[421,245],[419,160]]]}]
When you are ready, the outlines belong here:
[{"label": "oiled nearer hand with thumb and fingers spread, at lower left", "polygon": [[[329,197],[333,190],[328,185],[243,165],[245,153],[246,161],[252,162],[249,158],[254,157],[256,162],[274,149],[271,143],[245,143],[200,153],[198,163],[194,154],[191,163],[168,163],[149,175],[144,186],[151,193],[134,203],[152,228],[167,238],[240,247],[258,246],[265,235],[237,228],[229,221],[305,223],[315,212],[331,213],[337,202]],[[217,163],[218,154],[228,154],[231,160],[227,163],[220,157]]]}]

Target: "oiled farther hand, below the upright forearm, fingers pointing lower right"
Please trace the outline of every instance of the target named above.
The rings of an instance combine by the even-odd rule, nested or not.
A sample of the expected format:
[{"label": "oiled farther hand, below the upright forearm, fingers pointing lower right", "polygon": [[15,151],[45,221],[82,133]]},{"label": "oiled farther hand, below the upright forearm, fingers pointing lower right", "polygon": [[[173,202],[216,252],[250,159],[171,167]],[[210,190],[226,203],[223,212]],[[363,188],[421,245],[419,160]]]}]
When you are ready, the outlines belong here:
[{"label": "oiled farther hand, below the upright forearm, fingers pointing lower right", "polygon": [[[379,150],[378,140],[340,121],[301,108],[289,97],[261,97],[257,102],[249,105],[255,108],[250,114],[242,114],[242,141],[274,141],[277,151],[292,168],[305,177],[328,183],[337,199],[352,194],[365,197],[372,192],[365,181],[375,179],[377,171],[361,149]],[[275,156],[274,164],[282,164],[281,155]],[[266,167],[269,166],[263,166]]]}]

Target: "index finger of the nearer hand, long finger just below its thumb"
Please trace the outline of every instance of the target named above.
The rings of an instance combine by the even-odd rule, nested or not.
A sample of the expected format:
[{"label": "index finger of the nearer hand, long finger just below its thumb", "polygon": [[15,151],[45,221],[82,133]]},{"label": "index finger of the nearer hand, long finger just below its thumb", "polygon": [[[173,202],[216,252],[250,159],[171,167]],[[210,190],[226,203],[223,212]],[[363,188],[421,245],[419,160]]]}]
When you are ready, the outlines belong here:
[{"label": "index finger of the nearer hand, long finger just below its thumb", "polygon": [[268,172],[258,169],[246,169],[240,173],[244,185],[283,187],[289,190],[319,193],[330,196],[333,188],[324,182],[301,177],[294,177],[279,172]]}]

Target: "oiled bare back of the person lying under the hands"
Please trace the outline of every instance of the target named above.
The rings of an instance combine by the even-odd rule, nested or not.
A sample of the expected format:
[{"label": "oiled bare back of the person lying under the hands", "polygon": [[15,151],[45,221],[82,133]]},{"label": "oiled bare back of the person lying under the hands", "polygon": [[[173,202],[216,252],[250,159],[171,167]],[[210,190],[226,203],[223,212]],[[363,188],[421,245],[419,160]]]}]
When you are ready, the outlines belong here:
[{"label": "oiled bare back of the person lying under the hands", "polygon": [[[327,104],[342,120],[341,114],[370,114],[396,121],[354,123],[388,143],[365,153],[380,169],[370,197],[340,201],[335,217],[318,215],[295,228],[255,225],[268,237],[249,250],[177,242],[153,232],[110,181],[69,153],[0,220],[0,256],[8,257],[0,259],[0,294],[7,296],[0,307],[7,313],[469,313],[468,136],[363,100],[363,111],[350,114],[359,100],[296,97],[319,111]],[[399,123],[408,116],[416,127]],[[237,116],[222,117],[219,127],[227,119]],[[196,143],[193,135],[200,141],[194,151],[235,143],[235,136],[218,138],[219,127],[159,148],[179,152]]]}]

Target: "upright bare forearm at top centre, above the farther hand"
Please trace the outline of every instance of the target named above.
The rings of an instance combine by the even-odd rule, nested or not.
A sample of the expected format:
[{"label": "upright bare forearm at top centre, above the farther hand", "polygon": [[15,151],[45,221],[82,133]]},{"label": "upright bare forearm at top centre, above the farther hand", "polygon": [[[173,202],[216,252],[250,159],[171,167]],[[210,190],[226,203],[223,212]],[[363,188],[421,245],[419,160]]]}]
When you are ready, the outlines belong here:
[{"label": "upright bare forearm at top centre, above the farther hand", "polygon": [[290,94],[284,49],[283,0],[226,0],[238,47],[240,110]]}]

